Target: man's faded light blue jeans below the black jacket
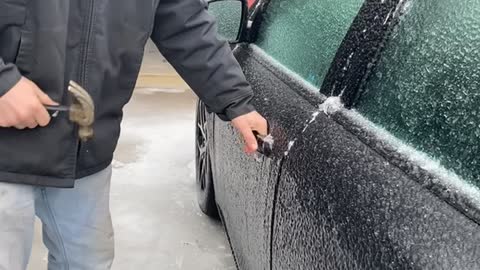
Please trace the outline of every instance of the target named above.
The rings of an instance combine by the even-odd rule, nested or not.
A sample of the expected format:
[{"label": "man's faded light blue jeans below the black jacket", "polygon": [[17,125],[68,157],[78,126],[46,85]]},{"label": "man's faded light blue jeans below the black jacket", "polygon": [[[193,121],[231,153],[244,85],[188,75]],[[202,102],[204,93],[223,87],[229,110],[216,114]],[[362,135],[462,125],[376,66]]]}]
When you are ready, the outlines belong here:
[{"label": "man's faded light blue jeans below the black jacket", "polygon": [[25,270],[35,214],[43,223],[49,270],[110,269],[114,256],[111,167],[73,189],[0,183],[0,270]]}]

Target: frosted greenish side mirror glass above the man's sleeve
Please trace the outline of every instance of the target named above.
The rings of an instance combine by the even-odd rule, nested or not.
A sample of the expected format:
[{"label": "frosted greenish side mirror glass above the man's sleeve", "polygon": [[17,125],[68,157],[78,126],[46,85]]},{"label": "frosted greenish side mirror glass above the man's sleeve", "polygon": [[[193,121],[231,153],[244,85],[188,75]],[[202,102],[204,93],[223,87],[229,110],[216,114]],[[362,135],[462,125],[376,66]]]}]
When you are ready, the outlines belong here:
[{"label": "frosted greenish side mirror glass above the man's sleeve", "polygon": [[220,38],[227,41],[236,41],[242,23],[242,2],[212,2],[208,5],[208,11],[217,20]]}]

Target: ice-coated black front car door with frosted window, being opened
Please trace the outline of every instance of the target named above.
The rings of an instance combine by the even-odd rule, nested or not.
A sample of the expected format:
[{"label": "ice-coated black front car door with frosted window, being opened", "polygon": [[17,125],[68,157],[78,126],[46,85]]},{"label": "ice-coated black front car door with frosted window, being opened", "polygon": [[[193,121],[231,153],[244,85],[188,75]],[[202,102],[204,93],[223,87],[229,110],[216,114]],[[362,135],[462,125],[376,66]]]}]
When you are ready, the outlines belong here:
[{"label": "ice-coated black front car door with frosted window, being opened", "polygon": [[[315,117],[315,104],[307,97],[317,100],[316,103],[323,100],[315,95],[322,81],[318,70],[323,75],[327,73],[361,5],[360,0],[357,5],[350,3],[350,16],[342,17],[335,31],[326,31],[330,39],[335,39],[333,44],[321,39],[305,40],[306,33],[315,31],[316,21],[304,25],[294,17],[282,16],[290,4],[283,6],[283,1],[279,6],[276,2],[266,9],[263,22],[256,21],[262,24],[253,26],[260,27],[258,40],[234,51],[255,92],[254,105],[269,121],[273,151],[268,156],[248,157],[242,153],[239,136],[228,123],[216,119],[214,127],[216,200],[240,269],[271,267],[272,213],[282,162]],[[303,3],[306,6],[297,12],[317,18],[318,3]],[[324,23],[328,20],[324,19]],[[283,27],[288,27],[291,35],[284,35]],[[323,54],[318,54],[316,43],[320,41],[328,45]],[[293,75],[294,72],[297,74]]]}]

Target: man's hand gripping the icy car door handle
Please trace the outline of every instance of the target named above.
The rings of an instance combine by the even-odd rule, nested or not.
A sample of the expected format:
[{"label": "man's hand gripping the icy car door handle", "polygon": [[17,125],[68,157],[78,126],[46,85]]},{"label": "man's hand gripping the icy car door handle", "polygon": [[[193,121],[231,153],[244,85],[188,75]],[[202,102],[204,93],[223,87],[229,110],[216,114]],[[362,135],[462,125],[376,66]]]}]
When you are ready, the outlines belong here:
[{"label": "man's hand gripping the icy car door handle", "polygon": [[257,151],[258,144],[253,131],[260,135],[267,135],[268,124],[258,112],[241,115],[232,120],[232,125],[242,134],[245,141],[245,152],[252,154]]}]

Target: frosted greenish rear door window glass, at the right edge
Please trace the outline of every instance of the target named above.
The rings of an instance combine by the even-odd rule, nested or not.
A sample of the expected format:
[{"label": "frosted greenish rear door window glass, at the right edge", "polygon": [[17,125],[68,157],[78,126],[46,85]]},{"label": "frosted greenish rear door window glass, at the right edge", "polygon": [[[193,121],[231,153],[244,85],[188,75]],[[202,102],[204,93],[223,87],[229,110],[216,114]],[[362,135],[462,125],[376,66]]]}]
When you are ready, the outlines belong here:
[{"label": "frosted greenish rear door window glass, at the right edge", "polygon": [[480,1],[408,4],[359,111],[480,185]]}]

